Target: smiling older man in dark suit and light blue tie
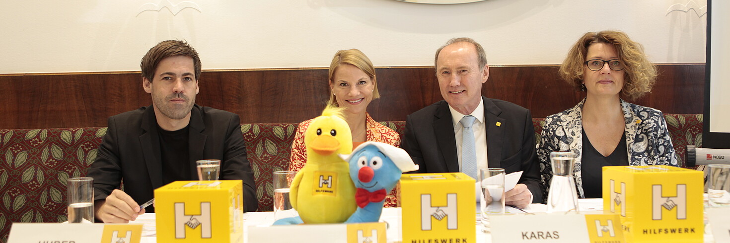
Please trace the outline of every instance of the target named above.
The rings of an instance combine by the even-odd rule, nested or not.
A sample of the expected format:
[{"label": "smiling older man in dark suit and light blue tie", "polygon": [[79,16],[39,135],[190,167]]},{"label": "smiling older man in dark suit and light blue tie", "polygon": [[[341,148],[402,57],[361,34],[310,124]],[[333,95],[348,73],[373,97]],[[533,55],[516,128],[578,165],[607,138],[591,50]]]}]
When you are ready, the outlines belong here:
[{"label": "smiling older man in dark suit and light blue tie", "polygon": [[[542,202],[539,163],[535,154],[534,127],[528,109],[481,95],[489,77],[486,55],[469,38],[451,39],[436,53],[436,76],[444,100],[418,110],[406,119],[401,147],[420,166],[416,173],[464,171],[461,144],[469,115],[478,169],[503,168],[509,174],[523,171],[519,184],[505,193],[505,203],[526,207]],[[465,156],[467,160],[471,156]],[[473,167],[472,168],[472,174]],[[468,169],[467,169],[468,170]],[[478,173],[478,172],[477,172]]]}]

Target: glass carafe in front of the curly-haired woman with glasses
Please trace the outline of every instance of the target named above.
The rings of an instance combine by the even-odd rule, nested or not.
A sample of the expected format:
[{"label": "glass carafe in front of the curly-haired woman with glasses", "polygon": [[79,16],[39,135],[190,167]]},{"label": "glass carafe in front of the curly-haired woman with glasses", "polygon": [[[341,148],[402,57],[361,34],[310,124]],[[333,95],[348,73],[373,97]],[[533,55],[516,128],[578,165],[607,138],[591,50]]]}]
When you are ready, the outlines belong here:
[{"label": "glass carafe in front of the curly-haired woman with glasses", "polygon": [[578,193],[573,180],[575,153],[552,152],[553,179],[548,191],[548,212],[578,212]]}]

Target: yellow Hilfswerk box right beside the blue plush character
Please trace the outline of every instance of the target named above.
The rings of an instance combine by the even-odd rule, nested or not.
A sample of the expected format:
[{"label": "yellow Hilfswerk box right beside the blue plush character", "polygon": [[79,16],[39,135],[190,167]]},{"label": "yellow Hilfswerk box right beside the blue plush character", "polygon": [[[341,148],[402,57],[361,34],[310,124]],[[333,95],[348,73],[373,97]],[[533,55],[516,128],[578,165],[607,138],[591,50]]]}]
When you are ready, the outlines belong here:
[{"label": "yellow Hilfswerk box right beside the blue plush character", "polygon": [[403,174],[403,242],[476,242],[475,182],[464,173]]}]

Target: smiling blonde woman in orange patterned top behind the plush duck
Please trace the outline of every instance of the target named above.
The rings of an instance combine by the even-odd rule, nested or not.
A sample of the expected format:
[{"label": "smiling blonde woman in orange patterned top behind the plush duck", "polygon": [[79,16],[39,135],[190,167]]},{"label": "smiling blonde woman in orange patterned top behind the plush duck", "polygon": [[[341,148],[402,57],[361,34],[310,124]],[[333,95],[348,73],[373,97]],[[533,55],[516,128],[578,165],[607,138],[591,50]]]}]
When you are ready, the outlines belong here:
[{"label": "smiling blonde woman in orange patterned top behind the plush duck", "polygon": [[[353,134],[353,148],[366,141],[384,142],[400,147],[400,135],[377,123],[366,112],[370,101],[380,98],[380,93],[377,91],[375,68],[364,53],[357,49],[337,51],[329,65],[329,88],[328,104],[345,108],[343,115]],[[305,120],[296,129],[291,144],[289,169],[292,171],[299,171],[307,163],[304,131],[307,131],[310,123],[312,120]],[[395,193],[391,192],[385,198],[385,207],[395,206]]]}]

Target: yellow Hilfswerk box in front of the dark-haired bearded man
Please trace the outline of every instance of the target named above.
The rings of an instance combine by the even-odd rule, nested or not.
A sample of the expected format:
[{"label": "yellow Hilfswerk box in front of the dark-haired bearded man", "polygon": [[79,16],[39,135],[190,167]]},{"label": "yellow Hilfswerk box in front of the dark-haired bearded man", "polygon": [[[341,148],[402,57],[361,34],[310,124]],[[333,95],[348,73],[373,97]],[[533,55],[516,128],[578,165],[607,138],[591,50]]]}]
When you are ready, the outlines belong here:
[{"label": "yellow Hilfswerk box in front of the dark-haired bearded man", "polygon": [[177,181],[155,189],[157,242],[243,242],[243,181]]}]

